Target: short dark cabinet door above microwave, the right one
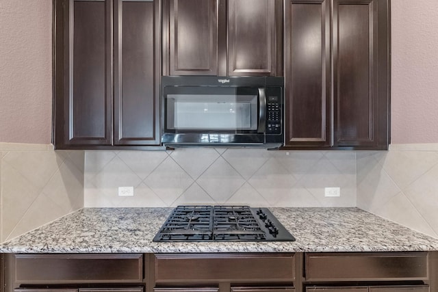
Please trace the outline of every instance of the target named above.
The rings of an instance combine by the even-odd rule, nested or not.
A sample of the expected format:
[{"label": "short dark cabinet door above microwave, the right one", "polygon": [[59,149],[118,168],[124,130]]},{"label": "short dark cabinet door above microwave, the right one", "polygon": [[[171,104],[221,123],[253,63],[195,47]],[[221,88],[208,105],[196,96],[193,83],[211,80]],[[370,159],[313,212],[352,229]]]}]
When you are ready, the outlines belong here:
[{"label": "short dark cabinet door above microwave, the right one", "polygon": [[[282,75],[281,1],[228,1],[228,75]],[[278,57],[278,58],[277,58]]]}]

